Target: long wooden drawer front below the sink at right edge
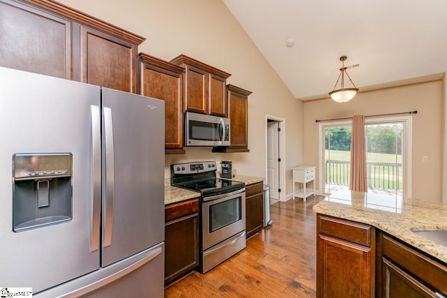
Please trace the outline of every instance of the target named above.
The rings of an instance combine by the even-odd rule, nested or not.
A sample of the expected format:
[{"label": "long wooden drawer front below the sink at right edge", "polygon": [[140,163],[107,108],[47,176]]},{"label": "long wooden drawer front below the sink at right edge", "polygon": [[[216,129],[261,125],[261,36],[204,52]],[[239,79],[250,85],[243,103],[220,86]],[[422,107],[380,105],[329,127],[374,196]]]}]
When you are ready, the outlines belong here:
[{"label": "long wooden drawer front below the sink at right edge", "polygon": [[382,245],[384,258],[410,271],[432,287],[447,292],[447,266],[385,234]]}]

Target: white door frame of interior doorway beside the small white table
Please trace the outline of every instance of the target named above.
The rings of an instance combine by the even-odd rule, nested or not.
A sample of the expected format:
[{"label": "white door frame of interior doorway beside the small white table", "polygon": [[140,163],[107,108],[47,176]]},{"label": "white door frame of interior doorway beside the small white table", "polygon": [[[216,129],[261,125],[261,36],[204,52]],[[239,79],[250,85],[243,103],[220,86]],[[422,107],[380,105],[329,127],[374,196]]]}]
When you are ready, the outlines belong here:
[{"label": "white door frame of interior doorway beside the small white table", "polygon": [[279,163],[279,188],[281,188],[281,193],[279,193],[279,201],[285,202],[286,195],[286,119],[265,114],[264,129],[265,129],[265,181],[268,181],[268,120],[278,121],[278,126],[281,128],[281,133],[279,134],[279,158],[281,162]]}]

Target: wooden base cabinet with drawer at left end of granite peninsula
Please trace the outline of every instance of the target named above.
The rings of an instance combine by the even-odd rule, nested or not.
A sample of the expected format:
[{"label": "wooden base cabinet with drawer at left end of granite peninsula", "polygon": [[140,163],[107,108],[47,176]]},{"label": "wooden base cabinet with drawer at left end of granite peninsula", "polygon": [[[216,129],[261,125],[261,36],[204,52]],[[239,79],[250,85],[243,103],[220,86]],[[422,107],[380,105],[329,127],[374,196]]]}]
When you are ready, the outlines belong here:
[{"label": "wooden base cabinet with drawer at left end of granite peninsula", "polygon": [[317,216],[317,297],[374,297],[374,228]]}]

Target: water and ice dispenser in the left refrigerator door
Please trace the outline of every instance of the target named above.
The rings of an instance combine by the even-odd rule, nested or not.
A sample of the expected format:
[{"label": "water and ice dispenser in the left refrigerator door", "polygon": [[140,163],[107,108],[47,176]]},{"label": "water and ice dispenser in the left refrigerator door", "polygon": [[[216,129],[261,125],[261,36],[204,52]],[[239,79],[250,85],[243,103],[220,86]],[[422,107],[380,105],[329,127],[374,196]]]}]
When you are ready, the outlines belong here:
[{"label": "water and ice dispenser in the left refrigerator door", "polygon": [[13,156],[13,230],[71,221],[71,154]]}]

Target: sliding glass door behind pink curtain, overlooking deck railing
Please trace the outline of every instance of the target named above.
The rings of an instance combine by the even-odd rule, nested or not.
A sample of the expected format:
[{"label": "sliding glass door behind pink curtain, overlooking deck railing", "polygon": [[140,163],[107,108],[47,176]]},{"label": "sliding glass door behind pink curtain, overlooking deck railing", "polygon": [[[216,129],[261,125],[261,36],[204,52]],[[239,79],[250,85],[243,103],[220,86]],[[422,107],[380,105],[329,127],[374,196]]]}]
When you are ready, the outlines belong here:
[{"label": "sliding glass door behind pink curtain, overlooking deck railing", "polygon": [[[351,122],[320,124],[325,193],[349,189]],[[368,192],[411,195],[411,117],[365,119]]]}]

